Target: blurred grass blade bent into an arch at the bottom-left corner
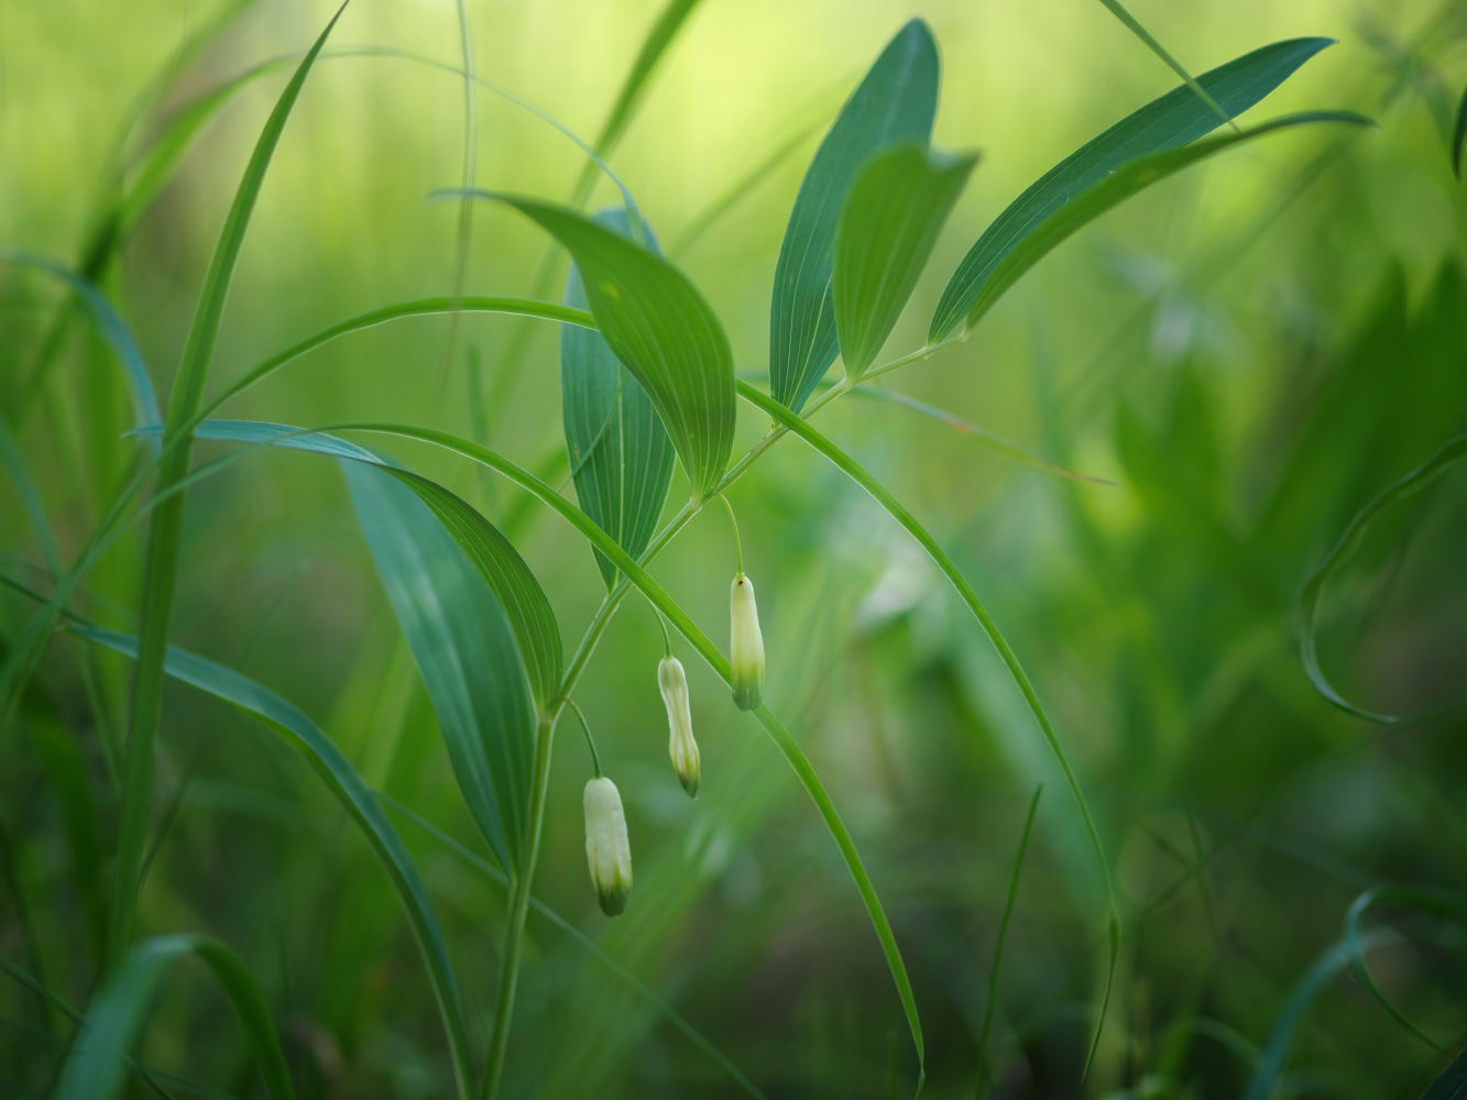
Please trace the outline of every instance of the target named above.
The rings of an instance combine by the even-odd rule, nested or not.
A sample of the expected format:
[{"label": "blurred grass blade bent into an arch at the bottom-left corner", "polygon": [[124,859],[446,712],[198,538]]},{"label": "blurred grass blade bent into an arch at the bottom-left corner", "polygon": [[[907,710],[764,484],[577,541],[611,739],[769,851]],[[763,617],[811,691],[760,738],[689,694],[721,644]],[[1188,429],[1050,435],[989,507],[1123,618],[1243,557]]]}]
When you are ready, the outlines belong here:
[{"label": "blurred grass blade bent into an arch at the bottom-left corner", "polygon": [[163,972],[179,955],[197,955],[224,987],[260,1062],[270,1100],[293,1100],[290,1072],[264,994],[239,956],[208,936],[156,936],[133,949],[87,1009],[87,1038],[66,1062],[57,1100],[110,1100],[117,1094],[122,1057]]}]

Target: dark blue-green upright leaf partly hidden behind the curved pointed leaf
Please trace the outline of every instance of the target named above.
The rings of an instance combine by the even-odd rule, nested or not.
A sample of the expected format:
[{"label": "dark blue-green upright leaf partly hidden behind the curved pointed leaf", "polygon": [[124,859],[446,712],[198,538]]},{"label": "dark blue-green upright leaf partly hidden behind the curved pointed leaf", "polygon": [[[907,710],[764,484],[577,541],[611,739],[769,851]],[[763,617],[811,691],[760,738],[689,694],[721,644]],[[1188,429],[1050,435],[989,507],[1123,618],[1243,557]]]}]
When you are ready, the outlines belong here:
[{"label": "dark blue-green upright leaf partly hidden behind the curved pointed leaf", "polygon": [[[631,236],[626,211],[619,207],[603,210],[594,220]],[[650,230],[648,243],[657,248]],[[585,308],[575,264],[566,277],[565,304]],[[672,440],[657,409],[601,334],[577,324],[560,326],[560,399],[581,510],[628,554],[641,557],[672,484]],[[616,566],[600,550],[594,553],[612,588]]]}]

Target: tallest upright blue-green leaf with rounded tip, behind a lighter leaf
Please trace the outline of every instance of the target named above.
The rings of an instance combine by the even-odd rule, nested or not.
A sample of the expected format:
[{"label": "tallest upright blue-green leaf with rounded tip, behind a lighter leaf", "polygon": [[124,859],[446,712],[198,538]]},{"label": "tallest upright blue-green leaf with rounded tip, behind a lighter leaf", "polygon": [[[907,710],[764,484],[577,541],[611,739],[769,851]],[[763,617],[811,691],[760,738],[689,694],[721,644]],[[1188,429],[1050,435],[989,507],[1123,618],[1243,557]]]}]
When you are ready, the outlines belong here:
[{"label": "tallest upright blue-green leaf with rounded tip, behind a lighter leaf", "polygon": [[846,100],[800,185],[775,267],[769,311],[769,383],[798,412],[835,362],[830,302],[835,236],[861,166],[880,150],[932,139],[937,114],[937,44],[920,19],[907,23]]}]

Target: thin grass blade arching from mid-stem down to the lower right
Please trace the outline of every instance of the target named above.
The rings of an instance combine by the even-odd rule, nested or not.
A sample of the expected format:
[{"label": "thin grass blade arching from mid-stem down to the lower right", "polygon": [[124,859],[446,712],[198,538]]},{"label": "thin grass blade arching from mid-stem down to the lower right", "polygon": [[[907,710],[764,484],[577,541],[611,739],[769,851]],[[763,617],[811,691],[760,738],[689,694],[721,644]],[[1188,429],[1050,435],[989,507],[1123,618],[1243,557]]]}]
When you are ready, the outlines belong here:
[{"label": "thin grass blade arching from mid-stem down to the lower right", "polygon": [[998,651],[1003,664],[1009,670],[1009,676],[1014,678],[1014,683],[1018,685],[1020,692],[1024,695],[1024,703],[1028,704],[1030,713],[1034,714],[1034,720],[1039,722],[1039,727],[1045,735],[1045,741],[1049,742],[1050,752],[1055,754],[1055,760],[1059,763],[1061,770],[1065,773],[1065,782],[1069,785],[1069,792],[1074,795],[1075,802],[1080,805],[1080,814],[1084,817],[1086,830],[1090,835],[1090,843],[1096,849],[1096,858],[1100,862],[1100,870],[1105,877],[1106,886],[1106,901],[1111,909],[1111,921],[1108,928],[1108,940],[1111,950],[1111,961],[1106,975],[1106,991],[1105,999],[1100,1005],[1100,1019],[1096,1024],[1094,1040],[1090,1044],[1090,1055],[1086,1057],[1086,1074],[1090,1072],[1090,1062],[1094,1059],[1096,1044],[1100,1041],[1100,1030],[1105,1027],[1106,1008],[1111,1003],[1111,986],[1115,981],[1115,964],[1121,952],[1121,917],[1115,905],[1115,892],[1111,883],[1111,861],[1106,858],[1105,845],[1100,842],[1100,830],[1096,827],[1094,817],[1090,814],[1090,804],[1086,801],[1084,792],[1080,789],[1080,779],[1075,776],[1074,769],[1069,766],[1069,757],[1065,754],[1064,745],[1059,744],[1059,735],[1055,733],[1055,727],[1049,725],[1049,716],[1045,713],[1043,704],[1039,701],[1033,685],[1028,682],[1028,673],[1024,672],[1024,666],[1020,664],[1018,657],[1014,650],[1009,648],[1008,641],[999,632],[998,623],[989,615],[987,609],[978,600],[977,593],[973,591],[973,585],[962,576],[962,572],[954,565],[952,559],[948,557],[946,551],[937,546],[927,529],[917,522],[917,519],[908,512],[896,497],[893,497],[886,488],[873,478],[866,468],[863,468],[855,459],[835,446],[830,440],[822,436],[819,431],[811,428],[801,417],[795,415],[783,405],[776,402],[758,390],[756,390],[748,383],[739,383],[739,396],[744,397],[750,405],[763,409],[770,417],[773,417],[779,424],[782,424],[789,431],[795,433],[808,443],[811,447],[819,450],[838,469],[846,474],[852,481],[855,481],[861,488],[871,494],[871,497],[886,509],[886,512],[901,524],[907,532],[921,544],[923,550],[929,553],[937,568],[946,573],[952,587],[958,590],[964,603],[968,604],[968,610],[977,617],[978,625],[983,632],[989,637],[993,648]]}]

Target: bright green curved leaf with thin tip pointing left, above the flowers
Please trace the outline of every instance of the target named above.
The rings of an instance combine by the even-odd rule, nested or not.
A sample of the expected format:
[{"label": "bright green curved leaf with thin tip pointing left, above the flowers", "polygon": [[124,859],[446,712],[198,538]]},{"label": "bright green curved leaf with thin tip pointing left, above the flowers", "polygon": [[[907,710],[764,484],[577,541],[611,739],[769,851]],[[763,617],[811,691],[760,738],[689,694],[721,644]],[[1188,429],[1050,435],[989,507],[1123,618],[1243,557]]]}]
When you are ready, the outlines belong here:
[{"label": "bright green curved leaf with thin tip pointing left, above the flowers", "polygon": [[676,267],[574,210],[497,195],[538,221],[581,270],[606,343],[651,397],[688,471],[709,496],[734,452],[734,352],[711,307]]}]

